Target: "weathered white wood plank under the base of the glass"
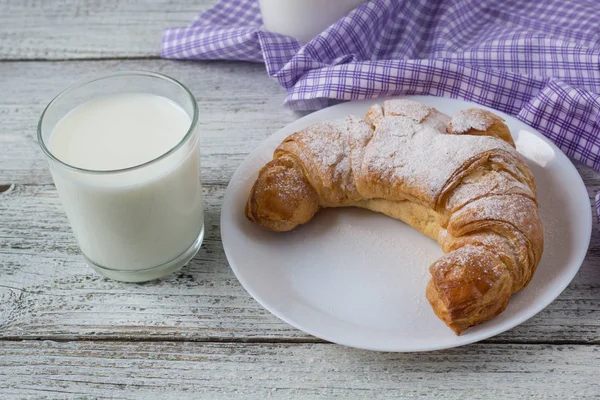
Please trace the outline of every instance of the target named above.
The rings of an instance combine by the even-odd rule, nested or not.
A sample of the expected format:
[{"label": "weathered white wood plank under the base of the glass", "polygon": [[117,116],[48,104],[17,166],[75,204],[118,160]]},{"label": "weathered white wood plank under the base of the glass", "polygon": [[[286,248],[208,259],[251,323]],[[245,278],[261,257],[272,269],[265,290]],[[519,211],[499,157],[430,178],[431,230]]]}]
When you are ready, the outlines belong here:
[{"label": "weathered white wood plank under the base of the glass", "polygon": [[[53,186],[0,194],[0,338],[314,340],[264,310],[229,269],[219,234],[224,188],[205,187],[199,255],[180,273],[143,285],[100,278],[85,265]],[[600,344],[598,265],[594,245],[565,293],[491,341]]]}]

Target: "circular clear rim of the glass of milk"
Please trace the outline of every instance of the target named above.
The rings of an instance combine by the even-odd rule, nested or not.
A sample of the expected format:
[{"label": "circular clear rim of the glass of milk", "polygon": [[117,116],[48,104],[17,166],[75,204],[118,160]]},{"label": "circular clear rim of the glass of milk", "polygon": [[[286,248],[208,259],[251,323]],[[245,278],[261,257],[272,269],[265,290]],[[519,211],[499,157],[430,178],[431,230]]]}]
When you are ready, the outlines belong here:
[{"label": "circular clear rim of the glass of milk", "polygon": [[[145,77],[150,77],[150,78],[158,78],[158,79],[165,80],[165,81],[167,81],[171,84],[174,84],[175,86],[178,86],[179,88],[183,89],[183,91],[187,94],[189,99],[192,101],[193,115],[192,115],[192,121],[190,122],[190,127],[188,128],[185,135],[181,138],[181,140],[179,142],[177,142],[177,144],[175,146],[171,147],[169,150],[167,150],[163,154],[161,154],[158,157],[155,157],[149,161],[146,161],[141,164],[136,164],[136,165],[133,165],[133,166],[127,167],[127,168],[119,168],[119,169],[111,169],[111,170],[95,170],[95,169],[76,167],[74,165],[71,165],[71,164],[61,160],[60,158],[58,158],[54,154],[52,154],[50,149],[46,146],[46,142],[44,141],[44,137],[42,135],[42,123],[43,123],[44,117],[46,116],[46,113],[48,112],[50,107],[52,107],[56,102],[58,102],[63,96],[67,95],[68,93],[71,93],[75,89],[79,89],[79,88],[81,88],[85,85],[88,85],[90,83],[93,83],[93,82],[97,82],[97,81],[104,80],[104,79],[120,77],[120,76],[145,76]],[[77,106],[75,106],[75,107],[77,107]],[[40,119],[38,121],[38,126],[37,126],[37,139],[38,139],[39,145],[42,148],[42,151],[44,152],[44,154],[46,154],[46,156],[50,160],[59,163],[60,165],[66,167],[67,169],[77,171],[77,172],[87,173],[87,174],[107,175],[107,174],[115,174],[115,173],[128,172],[128,171],[134,171],[137,169],[141,169],[141,168],[144,168],[146,166],[154,164],[154,163],[168,157],[169,155],[175,153],[178,149],[180,149],[185,142],[187,142],[187,140],[196,131],[197,125],[198,125],[198,104],[196,103],[196,99],[194,98],[194,95],[192,94],[192,92],[184,84],[182,84],[181,82],[179,82],[178,80],[176,80],[174,78],[171,78],[170,76],[167,76],[165,74],[161,74],[158,72],[143,71],[143,70],[127,70],[127,71],[113,72],[110,74],[98,75],[94,78],[90,78],[90,79],[86,79],[86,80],[77,82],[77,83],[67,87],[66,89],[62,90],[60,93],[58,93],[50,101],[50,103],[48,103],[48,105],[44,108],[44,111],[40,115]]]}]

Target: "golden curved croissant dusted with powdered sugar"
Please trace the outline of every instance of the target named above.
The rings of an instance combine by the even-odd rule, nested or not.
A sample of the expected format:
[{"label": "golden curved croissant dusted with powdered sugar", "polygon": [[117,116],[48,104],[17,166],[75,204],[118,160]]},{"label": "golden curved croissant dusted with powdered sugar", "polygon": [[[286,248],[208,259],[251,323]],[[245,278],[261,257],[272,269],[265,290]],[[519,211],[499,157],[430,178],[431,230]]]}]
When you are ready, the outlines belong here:
[{"label": "golden curved croissant dusted with powdered sugar", "polygon": [[390,100],[309,126],[277,147],[245,212],[283,232],[325,207],[381,212],[437,240],[426,297],[457,335],[504,311],[542,256],[531,171],[502,118],[481,109],[449,118]]}]

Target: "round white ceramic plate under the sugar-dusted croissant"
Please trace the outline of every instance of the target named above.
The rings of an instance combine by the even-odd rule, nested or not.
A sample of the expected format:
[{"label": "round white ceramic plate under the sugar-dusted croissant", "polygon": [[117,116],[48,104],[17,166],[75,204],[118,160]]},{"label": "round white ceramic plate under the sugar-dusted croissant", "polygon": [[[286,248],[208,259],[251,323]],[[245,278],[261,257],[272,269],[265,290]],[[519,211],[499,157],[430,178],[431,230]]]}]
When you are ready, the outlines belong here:
[{"label": "round white ceramic plate under the sugar-dusted croissant", "polygon": [[[461,100],[411,99],[448,115]],[[382,100],[379,100],[381,102]],[[293,232],[272,233],[246,220],[244,205],[258,170],[288,135],[315,122],[363,116],[375,101],[339,104],[301,118],[264,141],[231,178],[221,211],[221,235],[233,272],[260,304],[319,338],[364,349],[426,351],[473,343],[511,329],[552,302],[585,257],[592,227],[586,188],[569,159],[533,128],[506,119],[535,176],[545,250],[529,286],[506,311],[456,336],[425,298],[436,242],[402,222],[360,209],[318,213]]]}]

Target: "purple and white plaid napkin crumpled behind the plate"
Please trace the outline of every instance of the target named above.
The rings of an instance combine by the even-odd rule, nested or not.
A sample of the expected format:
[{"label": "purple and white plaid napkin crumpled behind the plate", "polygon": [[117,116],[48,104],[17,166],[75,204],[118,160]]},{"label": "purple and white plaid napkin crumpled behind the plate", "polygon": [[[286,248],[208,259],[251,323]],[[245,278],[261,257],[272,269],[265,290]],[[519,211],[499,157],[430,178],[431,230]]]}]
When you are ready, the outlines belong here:
[{"label": "purple and white plaid napkin crumpled behind the plate", "polygon": [[397,94],[474,101],[600,171],[598,21],[597,0],[370,0],[301,43],[265,31],[257,0],[222,0],[165,30],[162,56],[264,62],[294,109]]}]

